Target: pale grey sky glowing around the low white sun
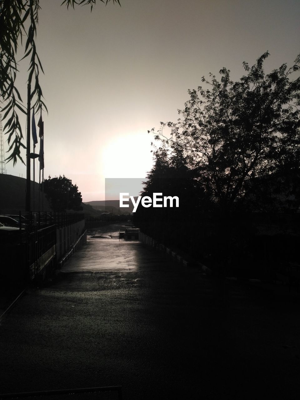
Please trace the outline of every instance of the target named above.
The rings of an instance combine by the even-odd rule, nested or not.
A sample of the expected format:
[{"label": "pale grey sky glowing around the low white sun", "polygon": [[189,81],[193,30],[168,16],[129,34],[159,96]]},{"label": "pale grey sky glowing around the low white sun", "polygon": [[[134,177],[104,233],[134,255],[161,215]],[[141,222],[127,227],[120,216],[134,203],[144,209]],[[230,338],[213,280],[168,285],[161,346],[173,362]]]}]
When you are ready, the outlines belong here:
[{"label": "pale grey sky glowing around the low white sun", "polygon": [[[300,53],[298,0],[97,1],[92,12],[61,3],[40,0],[36,38],[48,108],[44,177],[64,174],[84,202],[105,199],[105,178],[146,177],[153,164],[147,131],[176,121],[202,76],[218,78],[226,67],[238,80],[243,61],[252,66],[269,51],[270,72]],[[24,104],[28,62],[18,76]],[[21,162],[6,169],[26,177]]]}]

